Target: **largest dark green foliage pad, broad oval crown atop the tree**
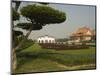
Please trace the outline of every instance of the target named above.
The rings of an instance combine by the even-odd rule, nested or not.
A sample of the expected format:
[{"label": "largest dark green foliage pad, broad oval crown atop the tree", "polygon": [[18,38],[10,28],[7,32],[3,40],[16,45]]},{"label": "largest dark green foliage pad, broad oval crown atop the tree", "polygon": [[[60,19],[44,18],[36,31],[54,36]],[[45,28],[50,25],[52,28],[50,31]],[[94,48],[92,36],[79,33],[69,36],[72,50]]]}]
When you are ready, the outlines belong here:
[{"label": "largest dark green foliage pad, broad oval crown atop the tree", "polygon": [[32,22],[41,25],[61,23],[66,20],[64,12],[60,12],[49,6],[28,5],[21,9],[21,14]]}]

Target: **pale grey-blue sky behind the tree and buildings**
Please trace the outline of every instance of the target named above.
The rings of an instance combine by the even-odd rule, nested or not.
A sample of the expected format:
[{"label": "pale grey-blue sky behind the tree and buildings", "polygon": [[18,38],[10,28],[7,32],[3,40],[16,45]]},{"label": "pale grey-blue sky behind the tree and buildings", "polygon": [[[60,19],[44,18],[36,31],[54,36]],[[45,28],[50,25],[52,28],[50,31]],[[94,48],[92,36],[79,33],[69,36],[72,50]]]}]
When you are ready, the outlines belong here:
[{"label": "pale grey-blue sky behind the tree and buildings", "polygon": [[[34,4],[32,2],[23,2],[19,10],[27,5]],[[14,4],[13,4],[14,6]],[[71,33],[78,28],[88,27],[95,29],[95,6],[89,5],[71,5],[71,4],[52,4],[48,6],[53,7],[59,11],[66,13],[66,21],[60,24],[49,24],[44,26],[41,30],[34,30],[31,32],[29,39],[37,39],[39,36],[53,36],[55,38],[68,38]],[[20,12],[20,11],[19,11]],[[25,22],[26,19],[21,16],[19,22]],[[17,22],[15,22],[17,23]],[[21,29],[18,29],[21,30]],[[27,31],[22,30],[24,34]]]}]

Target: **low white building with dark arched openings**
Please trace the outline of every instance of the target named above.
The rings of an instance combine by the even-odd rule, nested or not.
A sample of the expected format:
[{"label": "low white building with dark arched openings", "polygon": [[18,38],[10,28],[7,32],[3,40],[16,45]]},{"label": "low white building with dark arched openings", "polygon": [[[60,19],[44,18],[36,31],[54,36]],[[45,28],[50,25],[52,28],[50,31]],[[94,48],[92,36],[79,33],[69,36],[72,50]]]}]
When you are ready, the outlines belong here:
[{"label": "low white building with dark arched openings", "polygon": [[55,43],[55,38],[45,35],[45,36],[41,36],[37,38],[37,42],[38,43]]}]

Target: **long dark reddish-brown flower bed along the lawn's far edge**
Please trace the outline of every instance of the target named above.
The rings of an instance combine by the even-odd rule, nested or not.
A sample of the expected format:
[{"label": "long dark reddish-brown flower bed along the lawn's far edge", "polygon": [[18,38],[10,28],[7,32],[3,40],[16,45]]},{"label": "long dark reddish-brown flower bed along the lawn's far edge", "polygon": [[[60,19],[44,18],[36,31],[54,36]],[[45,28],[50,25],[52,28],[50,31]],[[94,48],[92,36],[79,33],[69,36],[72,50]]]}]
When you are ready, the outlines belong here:
[{"label": "long dark reddish-brown flower bed along the lawn's far edge", "polygon": [[57,49],[57,50],[67,50],[67,49],[86,49],[89,48],[87,45],[66,45],[66,44],[54,44],[45,43],[40,44],[42,48],[46,49]]}]

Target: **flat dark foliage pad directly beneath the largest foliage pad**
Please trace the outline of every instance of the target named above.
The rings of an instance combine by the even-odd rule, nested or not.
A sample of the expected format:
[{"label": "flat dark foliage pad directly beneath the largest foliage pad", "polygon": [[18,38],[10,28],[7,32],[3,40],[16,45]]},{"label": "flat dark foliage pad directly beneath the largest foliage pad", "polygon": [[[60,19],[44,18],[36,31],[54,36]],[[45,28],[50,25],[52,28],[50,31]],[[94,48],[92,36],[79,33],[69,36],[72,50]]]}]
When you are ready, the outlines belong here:
[{"label": "flat dark foliage pad directly beneath the largest foliage pad", "polygon": [[28,30],[32,26],[32,30],[40,30],[42,26],[40,24],[32,24],[32,23],[18,23],[17,27]]}]

